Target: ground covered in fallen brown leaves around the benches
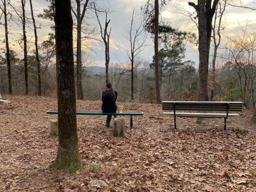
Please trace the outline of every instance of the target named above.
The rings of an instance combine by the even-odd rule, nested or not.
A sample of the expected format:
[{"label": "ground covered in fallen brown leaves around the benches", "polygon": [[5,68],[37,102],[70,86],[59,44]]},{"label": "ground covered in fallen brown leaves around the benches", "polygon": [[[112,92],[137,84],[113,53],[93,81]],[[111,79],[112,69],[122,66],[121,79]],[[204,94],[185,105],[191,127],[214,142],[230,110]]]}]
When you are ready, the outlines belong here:
[{"label": "ground covered in fallen brown leaves around the benches", "polygon": [[[57,100],[46,97],[2,95],[0,104],[0,191],[256,191],[255,125],[249,111],[227,121],[173,118],[161,105],[124,103],[125,110],[145,115],[129,117],[124,138],[113,138],[105,116],[78,116],[78,139],[83,169],[70,175],[57,170],[38,172],[56,155],[58,138],[49,136],[46,110]],[[100,110],[100,101],[77,101],[77,109]],[[237,125],[244,129],[235,131]],[[98,162],[100,167],[89,166]],[[93,179],[107,188],[89,188]]]}]

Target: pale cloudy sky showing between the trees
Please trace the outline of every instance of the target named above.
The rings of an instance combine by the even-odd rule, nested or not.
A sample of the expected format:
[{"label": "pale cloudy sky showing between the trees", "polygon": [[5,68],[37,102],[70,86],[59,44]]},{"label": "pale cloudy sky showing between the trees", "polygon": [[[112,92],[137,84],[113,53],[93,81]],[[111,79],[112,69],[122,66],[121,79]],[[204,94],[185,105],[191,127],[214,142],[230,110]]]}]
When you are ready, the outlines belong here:
[{"label": "pale cloudy sky showing between the trees", "polygon": [[[236,1],[236,0],[235,0]],[[256,7],[256,4],[251,0],[241,0],[244,6]],[[14,4],[18,3],[17,0],[11,0]],[[109,3],[108,3],[109,2]],[[109,28],[111,27],[110,34],[110,62],[121,62],[127,63],[129,59],[127,57],[127,49],[129,48],[129,42],[125,39],[127,30],[130,27],[131,15],[133,6],[137,6],[134,13],[134,27],[138,27],[141,21],[141,10],[140,7],[146,3],[146,0],[98,0],[98,5],[101,7],[108,6],[113,11],[108,15],[110,19]],[[196,2],[195,2],[196,3]],[[236,3],[236,2],[235,2]],[[28,3],[27,3],[28,4]],[[238,2],[236,3],[238,5]],[[47,9],[49,2],[44,0],[33,0],[33,7],[35,14],[42,13],[43,9]],[[174,28],[180,30],[191,31],[197,35],[197,28],[193,22],[189,22],[187,17],[182,17],[179,14],[179,10],[186,9],[189,11],[194,11],[190,7],[187,1],[171,1],[163,9],[161,9],[161,18],[165,22],[169,22],[170,25]],[[101,22],[105,19],[105,15],[99,15]],[[236,35],[239,30],[239,25],[244,25],[245,22],[249,22],[247,30],[255,31],[256,30],[256,11],[249,9],[227,7],[225,15],[223,16],[223,26],[225,26],[225,31],[223,32],[223,44],[225,43],[225,37],[227,35]],[[98,21],[95,19],[95,16],[92,14],[90,18],[85,18],[86,22],[90,23],[91,26],[99,27]],[[3,18],[1,19],[3,21]],[[48,38],[47,34],[51,32],[49,21],[36,18],[36,22],[40,22],[41,28],[37,30],[39,43],[43,42]],[[11,42],[11,48],[21,53],[21,47],[17,44],[17,39],[20,37],[22,29],[20,26],[17,26],[13,23],[10,27],[9,40]],[[34,36],[33,31],[28,28],[27,37],[29,41],[33,42]],[[99,33],[99,30],[98,30]],[[75,35],[74,35],[75,36]],[[99,35],[97,35],[100,38]],[[151,62],[154,55],[154,42],[150,34],[147,34],[147,41],[143,51],[139,54],[139,58],[144,61]],[[0,28],[0,38],[4,39],[4,27]],[[4,43],[0,45],[4,47]],[[75,45],[74,45],[75,46]],[[160,45],[161,46],[161,45]],[[32,49],[33,46],[31,46]],[[103,43],[90,41],[90,60],[94,66],[105,66],[105,48]],[[84,46],[84,51],[88,49]],[[186,44],[186,58],[184,60],[195,61],[198,65],[198,47],[194,44]]]}]

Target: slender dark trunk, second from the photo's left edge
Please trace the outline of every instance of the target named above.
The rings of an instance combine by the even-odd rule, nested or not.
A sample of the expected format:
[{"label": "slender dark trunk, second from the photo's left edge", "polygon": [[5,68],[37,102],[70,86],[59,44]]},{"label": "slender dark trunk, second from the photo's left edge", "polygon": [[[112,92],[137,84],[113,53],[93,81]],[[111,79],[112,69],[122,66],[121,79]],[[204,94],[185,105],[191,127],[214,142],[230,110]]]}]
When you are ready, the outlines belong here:
[{"label": "slender dark trunk, second from the photo's left edge", "polygon": [[24,51],[24,72],[25,72],[25,93],[28,94],[28,57],[27,57],[27,36],[26,36],[26,17],[25,1],[21,0],[22,5],[22,31],[23,31],[23,51]]}]

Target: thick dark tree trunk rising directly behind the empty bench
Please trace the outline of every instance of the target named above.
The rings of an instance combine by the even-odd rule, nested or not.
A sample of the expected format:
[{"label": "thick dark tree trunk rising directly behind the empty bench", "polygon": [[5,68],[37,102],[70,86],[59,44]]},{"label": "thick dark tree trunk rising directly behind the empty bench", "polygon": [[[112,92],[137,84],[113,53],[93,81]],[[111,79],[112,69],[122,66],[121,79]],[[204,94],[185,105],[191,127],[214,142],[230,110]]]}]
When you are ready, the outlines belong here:
[{"label": "thick dark tree trunk rising directly behind the empty bench", "polygon": [[198,35],[199,35],[199,101],[208,101],[207,76],[208,76],[208,60],[207,55],[207,33],[205,0],[198,0]]}]

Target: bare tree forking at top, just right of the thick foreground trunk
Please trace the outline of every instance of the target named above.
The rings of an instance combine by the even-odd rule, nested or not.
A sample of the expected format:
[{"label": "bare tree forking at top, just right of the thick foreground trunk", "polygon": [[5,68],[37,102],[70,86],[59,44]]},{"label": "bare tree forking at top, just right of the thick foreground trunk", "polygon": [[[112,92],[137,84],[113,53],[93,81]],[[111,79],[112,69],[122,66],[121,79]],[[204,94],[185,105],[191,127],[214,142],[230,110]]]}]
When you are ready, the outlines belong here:
[{"label": "bare tree forking at top, just right of the thick foreground trunk", "polygon": [[[82,22],[84,19],[85,11],[87,9],[87,5],[89,0],[86,0],[83,4],[83,0],[75,0],[76,2],[76,11],[72,9],[73,14],[76,18],[76,31],[77,31],[77,41],[76,41],[76,91],[77,91],[77,99],[84,99],[83,87],[82,87],[82,59],[81,59],[81,34],[82,34]],[[83,10],[81,12],[81,5],[83,6]]]}]

